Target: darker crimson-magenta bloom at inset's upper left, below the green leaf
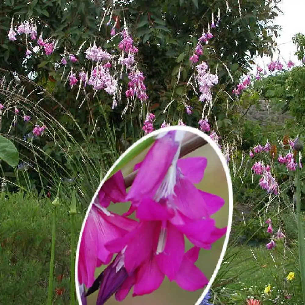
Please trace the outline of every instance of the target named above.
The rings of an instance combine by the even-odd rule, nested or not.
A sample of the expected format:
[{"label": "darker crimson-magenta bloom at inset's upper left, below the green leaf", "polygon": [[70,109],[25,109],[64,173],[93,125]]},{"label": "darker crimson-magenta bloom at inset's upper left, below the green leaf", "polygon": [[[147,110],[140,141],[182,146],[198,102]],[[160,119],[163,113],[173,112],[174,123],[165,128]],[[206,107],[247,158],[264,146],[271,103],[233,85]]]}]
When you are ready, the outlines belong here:
[{"label": "darker crimson-magenta bloom at inset's upper left, below the green leaf", "polygon": [[122,171],[117,171],[107,179],[99,190],[99,203],[103,207],[108,207],[110,202],[125,202],[126,188]]}]

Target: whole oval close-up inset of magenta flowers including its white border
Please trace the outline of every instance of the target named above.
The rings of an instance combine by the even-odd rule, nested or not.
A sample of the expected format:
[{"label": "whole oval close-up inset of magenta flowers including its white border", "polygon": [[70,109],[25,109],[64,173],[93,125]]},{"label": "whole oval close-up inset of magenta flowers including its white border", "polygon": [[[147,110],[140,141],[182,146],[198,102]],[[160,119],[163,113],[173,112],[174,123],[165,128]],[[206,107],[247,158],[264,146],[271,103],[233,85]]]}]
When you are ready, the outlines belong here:
[{"label": "whole oval close-up inset of magenta flowers including its white border", "polygon": [[162,128],[109,170],[77,246],[80,304],[199,303],[228,243],[232,186],[224,156],[203,132]]}]

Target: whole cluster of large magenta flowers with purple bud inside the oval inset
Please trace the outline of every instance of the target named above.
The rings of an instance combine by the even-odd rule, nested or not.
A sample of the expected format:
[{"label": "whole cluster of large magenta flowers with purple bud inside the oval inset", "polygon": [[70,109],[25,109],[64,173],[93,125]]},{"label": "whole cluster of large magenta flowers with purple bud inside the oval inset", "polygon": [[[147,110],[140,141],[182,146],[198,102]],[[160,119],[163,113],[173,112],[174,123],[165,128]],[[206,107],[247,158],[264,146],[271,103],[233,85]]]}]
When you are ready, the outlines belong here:
[{"label": "whole cluster of large magenta flowers with purple bud inside the oval inset", "polygon": [[[135,165],[128,191],[120,170],[101,186],[80,238],[78,283],[83,298],[97,289],[98,305],[113,294],[124,300],[132,287],[133,296],[149,294],[165,276],[187,291],[208,284],[195,263],[200,249],[211,249],[226,234],[227,227],[217,228],[212,218],[224,199],[196,188],[208,160],[179,158],[184,135],[175,130],[159,133]],[[130,207],[119,215],[108,210],[111,203]],[[187,251],[185,239],[193,244]],[[95,269],[107,264],[95,279]]]}]

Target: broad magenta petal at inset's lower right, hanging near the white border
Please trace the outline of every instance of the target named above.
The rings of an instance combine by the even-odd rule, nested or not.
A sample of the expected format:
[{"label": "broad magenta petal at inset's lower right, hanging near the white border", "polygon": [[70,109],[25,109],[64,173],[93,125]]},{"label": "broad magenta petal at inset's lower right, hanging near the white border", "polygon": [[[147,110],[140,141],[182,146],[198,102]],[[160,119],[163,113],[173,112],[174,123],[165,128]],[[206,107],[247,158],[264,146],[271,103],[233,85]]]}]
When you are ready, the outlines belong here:
[{"label": "broad magenta petal at inset's lower right, hanging near the white border", "polygon": [[[188,252],[190,252],[190,249]],[[194,251],[194,250],[193,250]],[[197,250],[196,250],[197,251]],[[194,265],[189,257],[193,254],[185,253],[181,267],[175,277],[175,282],[184,290],[196,291],[209,283],[208,278]]]}]

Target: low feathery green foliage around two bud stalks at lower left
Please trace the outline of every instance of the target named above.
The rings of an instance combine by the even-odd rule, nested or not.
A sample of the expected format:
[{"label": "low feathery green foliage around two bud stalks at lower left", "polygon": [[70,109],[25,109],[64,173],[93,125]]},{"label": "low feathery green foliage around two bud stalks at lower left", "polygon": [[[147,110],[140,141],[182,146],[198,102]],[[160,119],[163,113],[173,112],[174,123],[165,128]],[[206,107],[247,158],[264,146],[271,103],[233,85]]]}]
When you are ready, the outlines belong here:
[{"label": "low feathery green foliage around two bud stalks at lower left", "polygon": [[[0,193],[0,286],[1,303],[7,305],[44,304],[48,286],[48,262],[52,234],[52,200],[35,195]],[[63,295],[53,292],[53,304],[70,304],[70,222],[69,203],[58,207],[56,223],[55,273],[53,287],[65,288]],[[83,215],[75,215],[75,233],[81,229]],[[57,276],[63,275],[59,282]]]}]

